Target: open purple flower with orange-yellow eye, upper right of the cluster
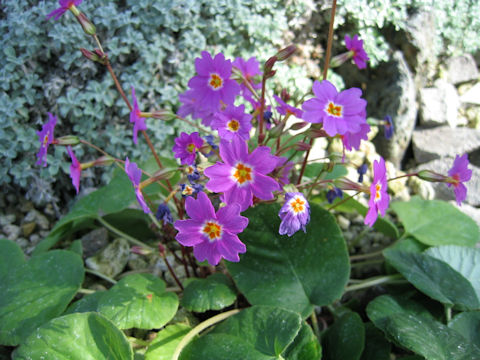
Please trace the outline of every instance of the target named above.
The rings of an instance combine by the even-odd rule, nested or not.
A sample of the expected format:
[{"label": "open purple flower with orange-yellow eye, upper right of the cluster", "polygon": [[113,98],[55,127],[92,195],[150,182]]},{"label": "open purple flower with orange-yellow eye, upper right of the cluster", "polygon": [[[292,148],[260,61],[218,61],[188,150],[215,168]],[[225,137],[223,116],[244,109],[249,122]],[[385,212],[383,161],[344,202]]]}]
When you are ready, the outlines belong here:
[{"label": "open purple flower with orange-yellow eye, upper right of the cluster", "polygon": [[360,125],[366,123],[367,106],[367,101],[361,98],[362,90],[351,88],[339,93],[331,82],[323,80],[313,83],[313,93],[316,97],[302,106],[305,121],[323,123],[329,136],[361,131]]}]

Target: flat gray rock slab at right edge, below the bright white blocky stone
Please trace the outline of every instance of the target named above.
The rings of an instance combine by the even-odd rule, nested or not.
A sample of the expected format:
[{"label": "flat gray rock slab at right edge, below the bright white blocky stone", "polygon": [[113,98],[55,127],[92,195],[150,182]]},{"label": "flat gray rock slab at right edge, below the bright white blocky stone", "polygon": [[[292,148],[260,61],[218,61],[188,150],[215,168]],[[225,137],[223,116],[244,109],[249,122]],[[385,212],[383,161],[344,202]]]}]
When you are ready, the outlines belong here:
[{"label": "flat gray rock slab at right edge, below the bright white blocky stone", "polygon": [[480,149],[480,131],[442,126],[413,132],[413,153],[417,163],[443,157],[455,157]]}]

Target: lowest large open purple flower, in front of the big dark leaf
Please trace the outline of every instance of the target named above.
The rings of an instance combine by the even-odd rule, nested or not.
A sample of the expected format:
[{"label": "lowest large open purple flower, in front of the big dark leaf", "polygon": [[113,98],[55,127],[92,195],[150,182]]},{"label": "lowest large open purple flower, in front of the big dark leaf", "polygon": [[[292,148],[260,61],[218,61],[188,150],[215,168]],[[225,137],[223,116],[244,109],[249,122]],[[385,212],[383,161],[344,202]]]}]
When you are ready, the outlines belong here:
[{"label": "lowest large open purple flower, in front of the big dark leaf", "polygon": [[223,257],[229,261],[240,261],[239,253],[247,249],[238,238],[248,225],[248,219],[240,215],[238,204],[227,205],[215,213],[208,196],[201,192],[197,199],[187,198],[185,210],[191,219],[177,220],[177,241],[183,246],[193,246],[198,261],[207,260],[217,265]]}]

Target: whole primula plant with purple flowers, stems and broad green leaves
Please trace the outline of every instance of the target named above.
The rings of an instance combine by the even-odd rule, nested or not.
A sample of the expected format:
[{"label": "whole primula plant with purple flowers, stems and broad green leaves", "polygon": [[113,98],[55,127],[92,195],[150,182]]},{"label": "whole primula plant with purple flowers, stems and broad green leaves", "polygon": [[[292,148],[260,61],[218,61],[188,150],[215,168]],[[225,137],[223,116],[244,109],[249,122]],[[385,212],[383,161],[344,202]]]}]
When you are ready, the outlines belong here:
[{"label": "whole primula plant with purple flowers, stems and broad green leaves", "polygon": [[[339,91],[326,80],[335,1],[323,77],[311,92],[294,100],[296,89],[278,91],[272,81],[294,45],[266,59],[203,51],[192,59],[196,75],[184,84],[176,113],[140,110],[141,84],[120,83],[81,2],[60,0],[47,18],[73,16],[92,38],[96,48],[82,49],[85,61],[111,74],[130,110],[128,136],[145,141],[151,154],[108,154],[88,134],[56,137],[57,117],[46,114],[37,165],[48,165],[50,145],[65,147],[77,193],[82,170],[118,169],[109,185],[78,199],[28,261],[0,240],[0,344],[18,346],[14,359],[480,358],[477,225],[448,203],[391,203],[388,189],[402,177],[443,182],[460,205],[472,176],[468,157],[457,156],[447,174],[397,178],[389,178],[381,157],[349,160],[371,126],[391,137],[394,119],[368,122],[362,90]],[[332,66],[351,60],[365,68],[362,40],[346,36],[345,46]],[[170,157],[160,157],[165,145],[150,141],[150,121],[181,121],[195,131],[181,132]],[[343,153],[312,159],[319,139],[339,141]],[[79,146],[99,158],[77,159]],[[358,180],[347,177],[348,168]],[[349,255],[336,212],[358,212],[363,234],[377,231],[392,245]],[[116,279],[85,269],[80,241],[49,250],[92,226],[140,257],[160,257],[175,287],[151,273]],[[351,277],[372,262],[386,264],[385,274]],[[108,289],[82,287],[89,286],[86,272]]]}]

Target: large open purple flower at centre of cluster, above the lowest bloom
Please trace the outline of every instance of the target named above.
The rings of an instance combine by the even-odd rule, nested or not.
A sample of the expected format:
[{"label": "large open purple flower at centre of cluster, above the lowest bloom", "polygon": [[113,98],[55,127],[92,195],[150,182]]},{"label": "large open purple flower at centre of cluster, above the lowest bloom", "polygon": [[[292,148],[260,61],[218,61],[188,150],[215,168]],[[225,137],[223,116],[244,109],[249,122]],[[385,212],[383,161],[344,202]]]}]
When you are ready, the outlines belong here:
[{"label": "large open purple flower at centre of cluster, above the lowest bloom", "polygon": [[244,211],[252,205],[253,196],[271,200],[273,191],[280,190],[278,183],[266,176],[278,164],[278,157],[270,154],[269,147],[259,146],[249,154],[247,143],[234,137],[231,142],[220,142],[220,157],[223,163],[205,169],[210,178],[205,186],[210,191],[224,193],[225,203],[238,203]]}]

